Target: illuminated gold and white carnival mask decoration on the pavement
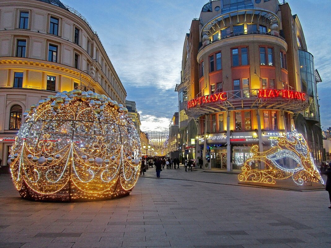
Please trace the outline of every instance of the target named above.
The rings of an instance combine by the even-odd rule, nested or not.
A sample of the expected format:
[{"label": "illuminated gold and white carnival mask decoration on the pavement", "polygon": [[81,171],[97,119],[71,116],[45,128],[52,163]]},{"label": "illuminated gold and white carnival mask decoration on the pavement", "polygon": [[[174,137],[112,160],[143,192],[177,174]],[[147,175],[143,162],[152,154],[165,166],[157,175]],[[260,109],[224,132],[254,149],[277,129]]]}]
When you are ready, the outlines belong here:
[{"label": "illuminated gold and white carnival mask decoration on the pavement", "polygon": [[[238,175],[240,181],[274,184],[275,179],[292,177],[299,185],[304,182],[323,184],[305,138],[293,126],[291,132],[271,142],[272,148],[265,152],[260,153],[258,145],[252,147],[251,153],[254,155],[244,163],[243,173]],[[258,161],[264,163],[264,170],[252,169]]]}]

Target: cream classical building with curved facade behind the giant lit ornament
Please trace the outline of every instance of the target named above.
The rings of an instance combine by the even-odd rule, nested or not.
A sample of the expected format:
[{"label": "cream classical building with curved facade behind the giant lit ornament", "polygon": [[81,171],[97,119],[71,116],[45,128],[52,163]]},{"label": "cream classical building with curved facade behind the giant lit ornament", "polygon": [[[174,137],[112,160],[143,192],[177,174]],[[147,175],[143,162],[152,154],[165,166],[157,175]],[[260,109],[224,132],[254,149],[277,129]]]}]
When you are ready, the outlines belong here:
[{"label": "cream classical building with curved facade behind the giant lit ornament", "polygon": [[0,0],[2,165],[25,109],[80,82],[125,106],[126,91],[98,34],[82,15],[59,0]]}]

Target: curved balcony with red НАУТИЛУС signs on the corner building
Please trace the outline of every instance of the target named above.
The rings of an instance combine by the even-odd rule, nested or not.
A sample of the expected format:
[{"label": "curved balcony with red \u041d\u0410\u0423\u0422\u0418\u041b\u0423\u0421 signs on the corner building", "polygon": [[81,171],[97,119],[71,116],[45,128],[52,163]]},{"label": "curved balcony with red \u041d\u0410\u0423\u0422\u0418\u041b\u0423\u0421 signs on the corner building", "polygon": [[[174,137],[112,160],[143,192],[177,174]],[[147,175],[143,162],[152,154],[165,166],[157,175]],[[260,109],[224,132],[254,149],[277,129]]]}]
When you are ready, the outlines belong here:
[{"label": "curved balcony with red \u041d\u0410\u0423\u0422\u0418\u041b\u0423\u0421 signs on the corner building", "polygon": [[297,113],[307,107],[307,96],[303,92],[285,89],[247,89],[194,98],[187,102],[186,114],[197,118],[206,114],[241,109],[276,109]]}]

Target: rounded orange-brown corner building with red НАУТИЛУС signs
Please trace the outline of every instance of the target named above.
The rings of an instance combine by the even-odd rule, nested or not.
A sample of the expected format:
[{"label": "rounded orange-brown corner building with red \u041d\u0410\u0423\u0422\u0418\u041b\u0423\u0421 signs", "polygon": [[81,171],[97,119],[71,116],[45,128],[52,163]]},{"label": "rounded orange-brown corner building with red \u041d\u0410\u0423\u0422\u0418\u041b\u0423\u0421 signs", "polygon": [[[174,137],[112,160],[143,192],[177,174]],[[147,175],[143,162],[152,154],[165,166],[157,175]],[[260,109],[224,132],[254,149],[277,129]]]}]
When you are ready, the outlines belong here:
[{"label": "rounded orange-brown corner building with red \u041d\u0410\u0423\u0422\u0418\u041b\u0423\u0421 signs", "polygon": [[182,68],[177,90],[188,100],[180,118],[198,124],[205,169],[241,169],[253,145],[270,149],[292,125],[321,161],[313,56],[288,3],[210,0],[186,35]]}]

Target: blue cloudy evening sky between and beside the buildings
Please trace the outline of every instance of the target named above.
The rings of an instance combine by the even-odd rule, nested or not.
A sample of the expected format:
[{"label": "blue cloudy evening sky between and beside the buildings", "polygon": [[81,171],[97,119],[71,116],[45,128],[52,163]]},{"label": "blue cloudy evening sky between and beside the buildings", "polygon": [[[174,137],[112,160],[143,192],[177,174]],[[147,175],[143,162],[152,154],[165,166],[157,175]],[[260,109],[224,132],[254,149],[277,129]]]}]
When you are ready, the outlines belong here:
[{"label": "blue cloudy evening sky between and beside the buildings", "polygon": [[[169,130],[178,112],[183,44],[192,19],[209,0],[62,0],[98,33],[121,80],[135,101],[142,131]],[[282,0],[281,0],[282,2]],[[287,0],[314,56],[321,126],[331,127],[331,0]]]}]

